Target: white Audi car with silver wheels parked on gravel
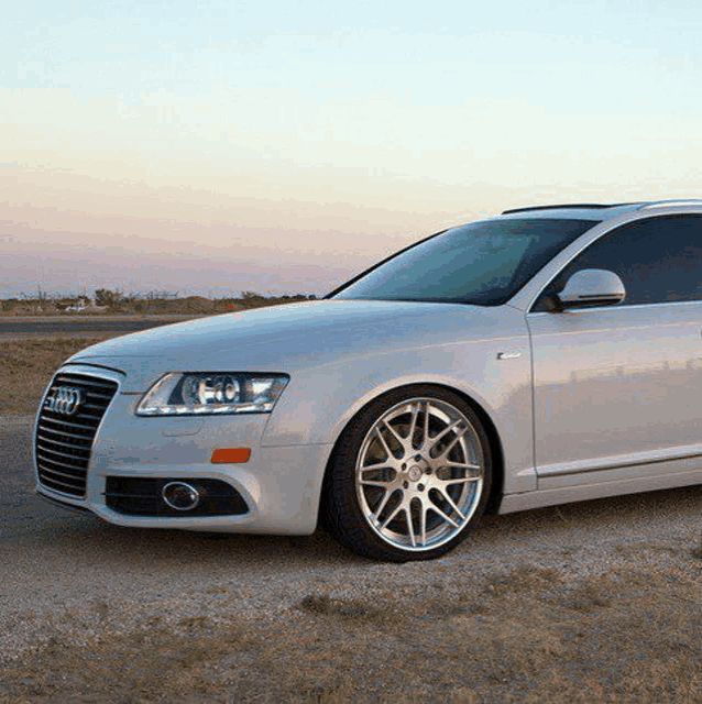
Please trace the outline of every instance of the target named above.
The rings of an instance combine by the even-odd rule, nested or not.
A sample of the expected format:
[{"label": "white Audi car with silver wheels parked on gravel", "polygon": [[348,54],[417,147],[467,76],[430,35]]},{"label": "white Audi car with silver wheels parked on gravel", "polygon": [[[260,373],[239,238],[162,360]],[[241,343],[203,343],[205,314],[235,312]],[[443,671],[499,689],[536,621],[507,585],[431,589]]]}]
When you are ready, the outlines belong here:
[{"label": "white Audi car with silver wheels parked on gravel", "polygon": [[39,493],[122,526],[421,560],[486,513],[702,483],[702,200],[522,208],[326,299],[125,336],[39,411]]}]

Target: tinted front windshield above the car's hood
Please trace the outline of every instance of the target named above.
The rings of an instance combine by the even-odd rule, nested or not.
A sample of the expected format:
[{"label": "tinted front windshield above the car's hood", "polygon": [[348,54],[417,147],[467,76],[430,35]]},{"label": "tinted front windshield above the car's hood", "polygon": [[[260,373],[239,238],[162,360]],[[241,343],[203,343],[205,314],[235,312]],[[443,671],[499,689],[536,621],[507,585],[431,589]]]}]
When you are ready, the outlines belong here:
[{"label": "tinted front windshield above the car's hood", "polygon": [[595,224],[524,218],[453,228],[382,262],[331,297],[496,306]]}]

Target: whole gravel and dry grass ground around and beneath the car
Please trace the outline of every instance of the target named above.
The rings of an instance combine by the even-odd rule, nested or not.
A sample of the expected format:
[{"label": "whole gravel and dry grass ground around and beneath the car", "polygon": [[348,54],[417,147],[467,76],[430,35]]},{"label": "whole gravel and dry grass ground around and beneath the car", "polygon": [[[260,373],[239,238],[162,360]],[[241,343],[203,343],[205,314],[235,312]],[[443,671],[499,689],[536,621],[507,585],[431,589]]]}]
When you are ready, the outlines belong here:
[{"label": "whole gravel and dry grass ground around and beneath the car", "polygon": [[[1,343],[0,414],[33,413],[89,342]],[[702,702],[700,486],[486,518],[445,559],[384,565],[323,532],[37,520],[15,417],[0,703]]]}]

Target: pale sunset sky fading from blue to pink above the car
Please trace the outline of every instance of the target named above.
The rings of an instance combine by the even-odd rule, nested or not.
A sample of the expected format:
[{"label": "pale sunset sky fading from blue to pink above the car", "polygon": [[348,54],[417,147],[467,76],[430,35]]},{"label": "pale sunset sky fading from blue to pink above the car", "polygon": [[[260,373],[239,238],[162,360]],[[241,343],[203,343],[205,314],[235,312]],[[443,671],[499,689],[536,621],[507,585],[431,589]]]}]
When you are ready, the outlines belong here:
[{"label": "pale sunset sky fading from blue to pink above the car", "polygon": [[519,206],[702,198],[699,0],[26,0],[0,298],[323,294]]}]

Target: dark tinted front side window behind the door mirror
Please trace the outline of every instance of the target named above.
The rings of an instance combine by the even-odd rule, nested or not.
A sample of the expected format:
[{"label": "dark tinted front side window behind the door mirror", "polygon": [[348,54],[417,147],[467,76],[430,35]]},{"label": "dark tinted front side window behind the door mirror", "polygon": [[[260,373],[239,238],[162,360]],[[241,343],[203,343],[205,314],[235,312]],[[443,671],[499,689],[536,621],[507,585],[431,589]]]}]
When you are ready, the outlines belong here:
[{"label": "dark tinted front side window behind the door mirror", "polygon": [[702,300],[702,216],[648,218],[605,234],[563,268],[531,310],[548,310],[545,298],[583,268],[617,274],[625,306]]}]

